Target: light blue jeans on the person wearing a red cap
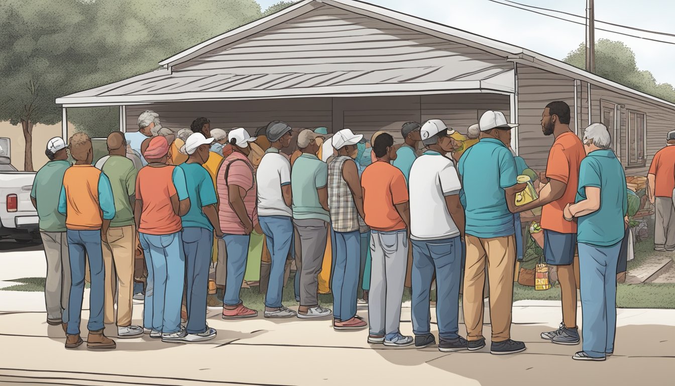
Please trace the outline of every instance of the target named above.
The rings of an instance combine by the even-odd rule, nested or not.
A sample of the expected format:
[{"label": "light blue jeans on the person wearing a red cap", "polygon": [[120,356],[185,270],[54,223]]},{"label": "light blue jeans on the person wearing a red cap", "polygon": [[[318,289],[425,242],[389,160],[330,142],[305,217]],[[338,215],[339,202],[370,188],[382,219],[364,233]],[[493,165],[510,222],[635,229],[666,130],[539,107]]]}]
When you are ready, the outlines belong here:
[{"label": "light blue jeans on the person wearing a red cap", "polygon": [[145,287],[143,327],[180,331],[180,306],[185,283],[185,256],[181,232],[169,235],[138,233],[145,254],[148,279]]}]

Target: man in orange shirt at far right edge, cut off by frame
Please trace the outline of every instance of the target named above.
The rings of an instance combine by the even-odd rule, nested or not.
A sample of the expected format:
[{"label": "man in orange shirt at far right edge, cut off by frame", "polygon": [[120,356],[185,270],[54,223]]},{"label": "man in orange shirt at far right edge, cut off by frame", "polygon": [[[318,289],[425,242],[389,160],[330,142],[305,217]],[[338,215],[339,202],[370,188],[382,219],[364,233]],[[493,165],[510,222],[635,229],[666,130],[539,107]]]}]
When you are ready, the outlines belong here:
[{"label": "man in orange shirt at far right edge, cut off by frame", "polygon": [[649,167],[649,202],[655,207],[654,249],[675,251],[675,130],[668,132],[666,147],[656,152]]}]

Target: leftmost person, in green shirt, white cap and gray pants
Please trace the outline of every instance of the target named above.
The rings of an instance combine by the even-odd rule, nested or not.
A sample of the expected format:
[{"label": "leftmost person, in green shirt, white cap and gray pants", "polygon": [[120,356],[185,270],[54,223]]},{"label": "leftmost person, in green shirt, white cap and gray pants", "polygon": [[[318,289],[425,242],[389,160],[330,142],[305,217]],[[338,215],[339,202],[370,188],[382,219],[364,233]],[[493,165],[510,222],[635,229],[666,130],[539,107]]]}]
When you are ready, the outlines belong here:
[{"label": "leftmost person, in green shirt, white cap and gray pants", "polygon": [[40,218],[40,236],[47,258],[47,280],[45,281],[45,304],[47,323],[58,326],[68,323],[68,297],[70,296],[70,260],[68,239],[65,236],[65,216],[59,213],[59,194],[63,185],[63,174],[70,167],[68,150],[61,137],[47,142],[45,150],[49,162],[33,180],[30,201]]}]

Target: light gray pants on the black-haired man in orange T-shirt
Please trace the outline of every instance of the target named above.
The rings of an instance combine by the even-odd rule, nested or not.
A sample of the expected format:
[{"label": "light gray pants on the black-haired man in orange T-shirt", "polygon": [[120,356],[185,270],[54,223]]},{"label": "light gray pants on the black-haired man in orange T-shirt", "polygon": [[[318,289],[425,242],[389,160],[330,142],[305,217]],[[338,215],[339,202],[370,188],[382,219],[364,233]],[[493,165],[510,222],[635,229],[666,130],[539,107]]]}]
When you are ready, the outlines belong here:
[{"label": "light gray pants on the black-haired man in orange T-shirt", "polygon": [[368,293],[370,334],[398,333],[408,266],[406,231],[371,231],[371,289]]}]

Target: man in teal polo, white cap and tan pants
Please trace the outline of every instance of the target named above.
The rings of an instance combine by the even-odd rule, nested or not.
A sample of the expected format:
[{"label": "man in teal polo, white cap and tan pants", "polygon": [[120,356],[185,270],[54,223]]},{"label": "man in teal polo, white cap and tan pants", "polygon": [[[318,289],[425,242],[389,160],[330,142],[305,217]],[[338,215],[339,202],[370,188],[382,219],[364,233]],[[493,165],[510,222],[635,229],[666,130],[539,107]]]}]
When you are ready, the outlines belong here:
[{"label": "man in teal polo, white cap and tan pants", "polygon": [[487,111],[479,122],[481,140],[464,152],[458,164],[466,212],[464,322],[468,349],[485,347],[483,287],[489,274],[490,320],[495,355],[522,352],[511,340],[513,276],[516,264],[515,196],[524,189],[516,181],[516,162],[508,149],[511,129],[502,112]]}]

